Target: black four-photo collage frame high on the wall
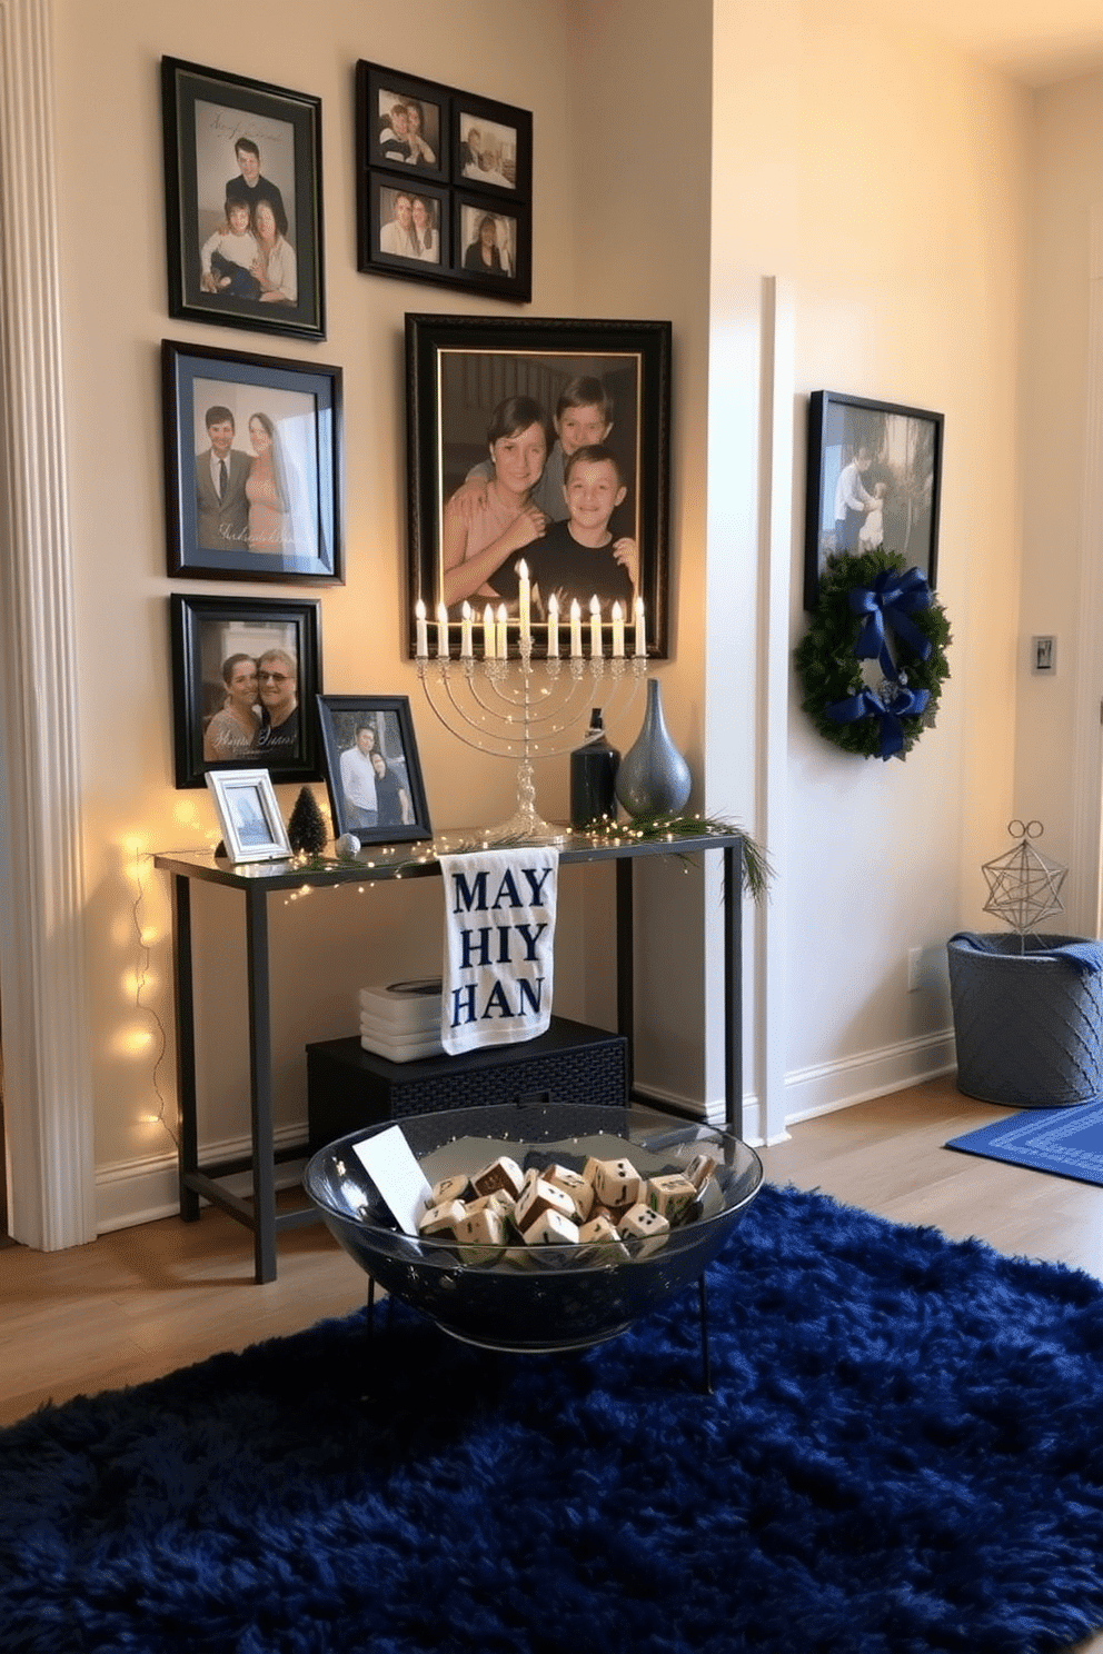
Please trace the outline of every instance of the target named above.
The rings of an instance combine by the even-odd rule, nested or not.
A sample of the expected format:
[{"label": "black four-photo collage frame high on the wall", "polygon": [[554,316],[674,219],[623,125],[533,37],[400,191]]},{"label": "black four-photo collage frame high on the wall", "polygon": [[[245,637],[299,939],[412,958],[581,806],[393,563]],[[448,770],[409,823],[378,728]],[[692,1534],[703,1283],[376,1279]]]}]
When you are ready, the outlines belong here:
[{"label": "black four-photo collage frame high on the wall", "polygon": [[[498,165],[476,164],[465,137],[473,126],[489,139],[481,154]],[[359,61],[356,155],[357,270],[531,299],[528,109]],[[494,227],[486,258],[473,233],[485,218]]]}]

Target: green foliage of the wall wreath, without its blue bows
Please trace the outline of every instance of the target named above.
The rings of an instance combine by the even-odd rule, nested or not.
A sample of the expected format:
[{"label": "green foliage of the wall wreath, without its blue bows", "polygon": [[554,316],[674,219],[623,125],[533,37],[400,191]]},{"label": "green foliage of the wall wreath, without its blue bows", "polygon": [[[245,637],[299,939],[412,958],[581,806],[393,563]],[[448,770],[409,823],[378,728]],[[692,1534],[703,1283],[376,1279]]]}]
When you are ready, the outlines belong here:
[{"label": "green foliage of the wall wreath, without its blue bows", "polygon": [[[871,587],[876,577],[886,572],[905,574],[906,564],[901,556],[885,551],[883,546],[876,551],[830,556],[820,576],[820,599],[815,614],[794,652],[794,663],[804,686],[800,703],[804,711],[825,741],[843,753],[857,753],[862,758],[890,756],[881,751],[881,719],[868,715],[852,723],[840,723],[828,716],[828,708],[838,706],[868,688],[868,676],[863,672],[865,662],[855,655],[855,643],[865,620],[852,609],[850,592],[855,587]],[[905,758],[923,729],[934,723],[943,683],[949,678],[946,645],[951,642],[951,630],[943,605],[931,599],[928,609],[911,612],[908,619],[931,645],[931,653],[923,660],[916,650],[908,648],[895,637],[890,627],[896,678],[905,690],[926,690],[928,701],[921,713],[900,716],[903,746],[895,754],[896,758]]]}]

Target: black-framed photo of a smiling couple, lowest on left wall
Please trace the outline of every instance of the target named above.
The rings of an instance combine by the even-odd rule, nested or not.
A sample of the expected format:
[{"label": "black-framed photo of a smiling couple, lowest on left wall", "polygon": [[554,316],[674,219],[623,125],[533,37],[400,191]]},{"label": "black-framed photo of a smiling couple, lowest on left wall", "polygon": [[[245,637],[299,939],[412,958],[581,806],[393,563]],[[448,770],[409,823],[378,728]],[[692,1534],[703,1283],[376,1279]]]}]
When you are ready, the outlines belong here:
[{"label": "black-framed photo of a smiling couple, lowest on left wall", "polygon": [[[268,769],[273,781],[321,781],[318,726],[313,708],[321,693],[321,602],[308,599],[189,597],[169,599],[172,643],[172,723],[177,787],[202,787],[212,769]],[[233,696],[233,668],[223,678],[223,663],[248,658],[260,662],[270,650],[286,652],[298,667],[293,724],[279,718],[283,734],[250,736],[227,724],[213,756],[212,719],[227,711]],[[273,660],[271,695],[286,700],[286,662]],[[253,710],[263,711],[263,686],[256,685]],[[222,733],[222,731],[220,731]],[[207,741],[207,748],[205,748]]]}]

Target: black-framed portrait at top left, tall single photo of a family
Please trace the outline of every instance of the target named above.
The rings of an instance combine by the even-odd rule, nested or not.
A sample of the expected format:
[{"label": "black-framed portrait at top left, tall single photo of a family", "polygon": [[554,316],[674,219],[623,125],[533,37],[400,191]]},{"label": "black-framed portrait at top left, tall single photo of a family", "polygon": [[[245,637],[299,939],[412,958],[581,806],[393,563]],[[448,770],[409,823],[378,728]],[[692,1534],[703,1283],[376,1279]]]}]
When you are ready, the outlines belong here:
[{"label": "black-framed portrait at top left, tall single photo of a family", "polygon": [[[324,339],[321,98],[162,58],[160,101],[169,314]],[[260,180],[246,177],[256,165]],[[228,194],[246,189],[273,203],[284,245],[270,265],[271,280],[283,286],[271,293],[286,291],[286,298],[261,296],[240,240],[212,246],[212,237],[225,233]],[[225,273],[210,275],[210,260],[220,251],[233,256]],[[212,289],[208,281],[228,284]]]}]

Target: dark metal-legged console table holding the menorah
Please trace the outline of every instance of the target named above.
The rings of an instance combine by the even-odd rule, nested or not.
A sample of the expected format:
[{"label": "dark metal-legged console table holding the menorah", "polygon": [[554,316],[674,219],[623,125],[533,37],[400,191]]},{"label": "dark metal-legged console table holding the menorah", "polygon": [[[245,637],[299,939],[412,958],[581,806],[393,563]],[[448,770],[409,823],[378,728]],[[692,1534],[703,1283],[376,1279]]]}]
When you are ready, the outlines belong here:
[{"label": "dark metal-legged console table holding the menorah", "polygon": [[[440,834],[443,849],[463,834]],[[470,834],[466,835],[470,837]],[[412,845],[410,852],[418,847]],[[628,1073],[635,1027],[633,986],[633,913],[632,868],[640,857],[719,853],[724,872],[724,1102],[726,1130],[739,1136],[742,1115],[742,837],[708,834],[700,839],[643,840],[632,844],[594,844],[585,834],[572,834],[559,852],[561,867],[580,862],[614,862],[617,877],[617,1032],[628,1040]],[[369,867],[369,858],[375,860]],[[155,855],[154,865],[172,877],[172,953],[175,968],[177,1022],[177,1090],[179,1090],[179,1178],[180,1217],[195,1222],[200,1196],[253,1231],[256,1282],[276,1279],[276,1234],[279,1229],[314,1222],[316,1209],[276,1211],[278,1161],[299,1159],[303,1143],[275,1148],[271,1118],[271,1006],[268,968],[268,898],[303,885],[364,885],[375,880],[438,878],[440,863],[405,858],[382,862],[379,850],[362,850],[354,863],[334,863],[309,870],[294,862],[232,863],[210,855]],[[192,880],[240,890],[245,901],[245,938],[248,971],[248,1052],[250,1052],[250,1120],[251,1151],[228,1161],[200,1164],[195,1092],[195,996],[192,956]],[[630,1097],[643,1100],[630,1088]],[[248,1171],[253,1197],[243,1199],[223,1188],[222,1179]]]}]

